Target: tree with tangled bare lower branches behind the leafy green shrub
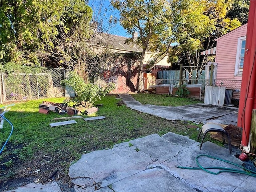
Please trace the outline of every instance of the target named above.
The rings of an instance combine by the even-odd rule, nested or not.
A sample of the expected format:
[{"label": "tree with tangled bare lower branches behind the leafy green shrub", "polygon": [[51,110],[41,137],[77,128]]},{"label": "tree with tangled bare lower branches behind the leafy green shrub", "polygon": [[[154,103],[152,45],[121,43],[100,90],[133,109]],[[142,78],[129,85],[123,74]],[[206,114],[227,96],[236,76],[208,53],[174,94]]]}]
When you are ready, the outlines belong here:
[{"label": "tree with tangled bare lower branches behind the leafy green shrub", "polygon": [[40,57],[46,58],[46,66],[70,68],[87,81],[86,59],[90,54],[87,42],[92,34],[92,9],[82,0],[67,2],[60,24],[56,25],[58,35],[45,42]]}]

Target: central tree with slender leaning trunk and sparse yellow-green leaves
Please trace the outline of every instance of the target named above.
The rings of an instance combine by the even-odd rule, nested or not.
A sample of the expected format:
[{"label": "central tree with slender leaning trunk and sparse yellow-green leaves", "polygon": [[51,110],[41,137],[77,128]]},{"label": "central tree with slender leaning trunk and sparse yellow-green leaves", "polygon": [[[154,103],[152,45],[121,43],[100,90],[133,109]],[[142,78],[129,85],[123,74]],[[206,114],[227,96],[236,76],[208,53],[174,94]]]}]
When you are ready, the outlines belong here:
[{"label": "central tree with slender leaning trunk and sparse yellow-green leaves", "polygon": [[[139,34],[134,43],[142,47],[137,80],[137,90],[142,91],[142,70],[146,50],[164,53],[173,40],[172,22],[169,20],[171,3],[167,0],[112,0],[111,3],[120,11],[120,23],[124,29],[129,34]],[[156,59],[153,60],[153,65]]]}]

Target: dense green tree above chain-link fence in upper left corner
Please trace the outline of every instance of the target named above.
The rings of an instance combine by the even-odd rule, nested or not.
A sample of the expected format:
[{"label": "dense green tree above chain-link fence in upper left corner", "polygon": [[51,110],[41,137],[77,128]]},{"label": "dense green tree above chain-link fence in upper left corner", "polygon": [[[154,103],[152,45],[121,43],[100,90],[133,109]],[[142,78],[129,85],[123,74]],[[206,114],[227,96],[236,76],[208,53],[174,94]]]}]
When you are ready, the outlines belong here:
[{"label": "dense green tree above chain-link fence in upper left corner", "polygon": [[62,0],[2,0],[2,62],[38,64],[36,50],[44,49],[44,42],[58,34],[56,25],[60,23],[64,4]]}]

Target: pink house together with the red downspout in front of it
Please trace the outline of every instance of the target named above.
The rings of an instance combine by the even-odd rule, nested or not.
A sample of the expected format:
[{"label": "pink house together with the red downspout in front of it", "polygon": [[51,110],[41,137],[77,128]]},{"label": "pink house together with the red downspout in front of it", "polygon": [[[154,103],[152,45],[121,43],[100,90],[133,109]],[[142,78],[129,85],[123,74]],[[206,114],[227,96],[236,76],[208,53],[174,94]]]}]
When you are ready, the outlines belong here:
[{"label": "pink house together with the red downspout in front of it", "polygon": [[[240,99],[237,126],[242,128],[242,154],[256,154],[255,34],[256,1],[250,1],[248,24],[218,38],[216,46],[216,84],[223,80],[223,86],[234,90],[233,98]],[[213,51],[206,50],[201,54],[213,54]],[[228,81],[232,83],[226,83]]]}]

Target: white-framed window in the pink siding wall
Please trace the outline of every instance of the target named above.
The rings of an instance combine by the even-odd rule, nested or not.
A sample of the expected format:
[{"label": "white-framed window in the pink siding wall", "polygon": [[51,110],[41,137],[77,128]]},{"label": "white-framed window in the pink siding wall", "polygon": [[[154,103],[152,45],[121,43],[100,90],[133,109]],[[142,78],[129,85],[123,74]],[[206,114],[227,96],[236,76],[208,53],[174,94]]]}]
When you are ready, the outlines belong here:
[{"label": "white-framed window in the pink siding wall", "polygon": [[242,75],[243,73],[245,42],[246,42],[246,36],[238,38],[237,50],[236,50],[235,76]]}]

